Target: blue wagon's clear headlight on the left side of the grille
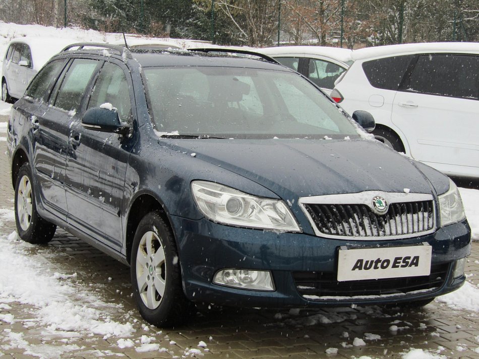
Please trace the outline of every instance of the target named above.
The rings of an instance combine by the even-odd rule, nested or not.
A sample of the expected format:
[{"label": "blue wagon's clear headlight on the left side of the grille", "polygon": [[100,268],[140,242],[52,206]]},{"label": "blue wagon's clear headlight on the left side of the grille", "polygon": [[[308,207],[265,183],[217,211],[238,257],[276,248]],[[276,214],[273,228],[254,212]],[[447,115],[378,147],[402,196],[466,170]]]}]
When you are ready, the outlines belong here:
[{"label": "blue wagon's clear headlight on the left side of the grille", "polygon": [[206,181],[193,181],[191,189],[198,208],[211,221],[238,227],[301,231],[282,200],[256,197]]}]

